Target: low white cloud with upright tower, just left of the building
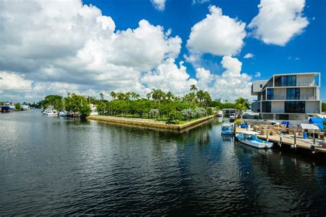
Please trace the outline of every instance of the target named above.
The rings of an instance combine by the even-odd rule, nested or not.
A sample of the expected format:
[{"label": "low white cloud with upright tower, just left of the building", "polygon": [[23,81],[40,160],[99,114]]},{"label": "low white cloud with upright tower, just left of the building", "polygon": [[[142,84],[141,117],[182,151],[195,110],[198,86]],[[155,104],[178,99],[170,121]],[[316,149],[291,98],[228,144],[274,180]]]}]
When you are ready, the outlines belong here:
[{"label": "low white cloud with upright tower, just left of the building", "polygon": [[252,77],[248,76],[247,73],[241,73],[242,62],[237,58],[224,56],[221,60],[221,65],[226,69],[221,76],[210,73],[206,69],[197,69],[197,86],[200,89],[209,91],[215,99],[235,100],[239,96],[251,98],[250,87]]}]

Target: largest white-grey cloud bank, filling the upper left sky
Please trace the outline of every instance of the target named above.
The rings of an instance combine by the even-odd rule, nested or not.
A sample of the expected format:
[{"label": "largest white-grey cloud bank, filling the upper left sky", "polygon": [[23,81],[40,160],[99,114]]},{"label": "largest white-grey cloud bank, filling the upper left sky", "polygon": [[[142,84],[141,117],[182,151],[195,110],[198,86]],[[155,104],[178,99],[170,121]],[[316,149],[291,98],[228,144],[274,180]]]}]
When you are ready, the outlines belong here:
[{"label": "largest white-grey cloud bank, filling the upper left sky", "polygon": [[116,30],[110,16],[80,0],[3,1],[0,20],[1,71],[43,88],[47,82],[69,84],[61,88],[80,93],[143,91],[142,72],[176,58],[182,43],[171,30],[146,20],[135,29]]}]

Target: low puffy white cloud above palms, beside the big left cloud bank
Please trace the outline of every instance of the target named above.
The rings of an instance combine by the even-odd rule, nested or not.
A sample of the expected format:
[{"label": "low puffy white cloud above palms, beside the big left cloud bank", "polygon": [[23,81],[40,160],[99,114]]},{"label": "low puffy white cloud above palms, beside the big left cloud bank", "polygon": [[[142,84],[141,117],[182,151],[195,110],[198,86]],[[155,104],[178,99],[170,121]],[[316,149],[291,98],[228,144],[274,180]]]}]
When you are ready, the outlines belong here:
[{"label": "low puffy white cloud above palms, beside the big left cloud bank", "polygon": [[170,58],[159,65],[155,70],[149,71],[141,78],[142,84],[146,85],[147,92],[150,89],[162,89],[171,91],[177,95],[188,92],[191,84],[196,84],[186,72],[186,67],[180,62],[180,67],[175,65],[175,60]]}]

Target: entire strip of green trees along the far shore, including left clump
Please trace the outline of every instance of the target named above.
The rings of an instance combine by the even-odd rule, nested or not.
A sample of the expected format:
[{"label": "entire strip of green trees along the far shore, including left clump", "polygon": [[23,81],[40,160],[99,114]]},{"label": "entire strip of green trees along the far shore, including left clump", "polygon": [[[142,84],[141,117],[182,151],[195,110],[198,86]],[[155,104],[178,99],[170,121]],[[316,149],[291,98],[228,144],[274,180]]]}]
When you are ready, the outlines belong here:
[{"label": "entire strip of green trees along the far shore, including left clump", "polygon": [[[100,93],[100,99],[85,98],[74,93],[68,94],[67,98],[60,95],[47,95],[41,104],[43,108],[52,106],[61,110],[65,106],[68,114],[80,114],[84,117],[91,113],[89,102],[97,106],[99,115],[111,115],[116,117],[135,117],[143,119],[155,119],[168,124],[188,122],[192,119],[213,115],[219,109],[248,109],[248,100],[239,98],[235,103],[221,103],[212,101],[207,91],[198,90],[191,85],[190,93],[184,97],[175,96],[171,92],[164,93],[160,89],[152,89],[141,98],[134,92],[111,91],[111,100],[105,100],[104,93]],[[89,101],[89,102],[88,102]]]}]

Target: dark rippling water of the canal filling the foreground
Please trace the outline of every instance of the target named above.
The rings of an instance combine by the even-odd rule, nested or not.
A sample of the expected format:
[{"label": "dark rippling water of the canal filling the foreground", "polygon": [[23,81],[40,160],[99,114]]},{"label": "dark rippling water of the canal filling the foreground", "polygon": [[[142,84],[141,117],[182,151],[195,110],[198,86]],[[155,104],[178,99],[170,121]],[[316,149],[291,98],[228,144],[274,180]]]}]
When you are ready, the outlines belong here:
[{"label": "dark rippling water of the canal filling the foreground", "polygon": [[221,137],[0,114],[0,214],[326,214],[326,165]]}]

